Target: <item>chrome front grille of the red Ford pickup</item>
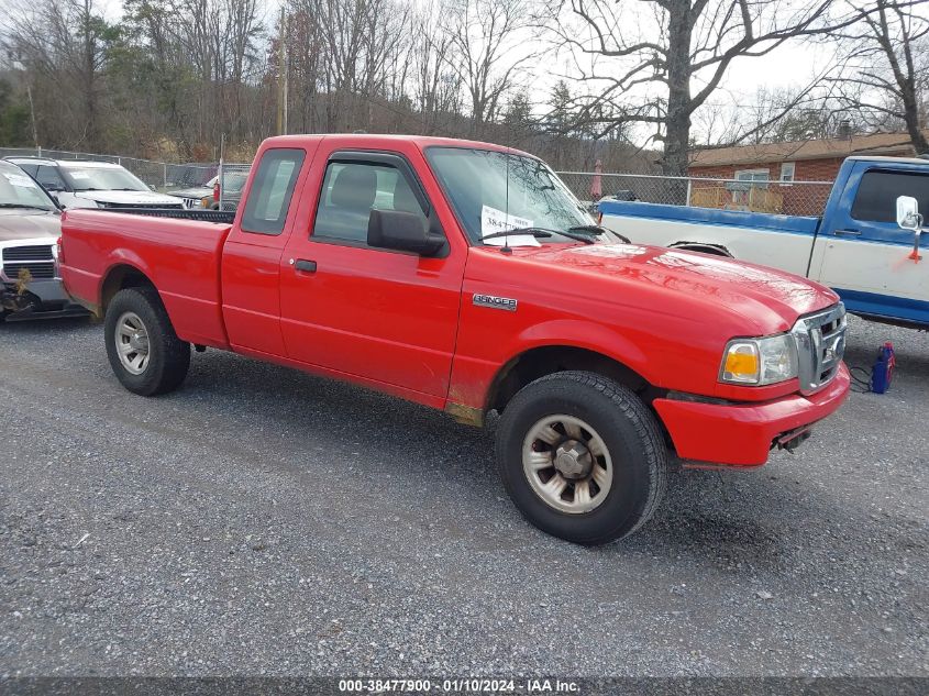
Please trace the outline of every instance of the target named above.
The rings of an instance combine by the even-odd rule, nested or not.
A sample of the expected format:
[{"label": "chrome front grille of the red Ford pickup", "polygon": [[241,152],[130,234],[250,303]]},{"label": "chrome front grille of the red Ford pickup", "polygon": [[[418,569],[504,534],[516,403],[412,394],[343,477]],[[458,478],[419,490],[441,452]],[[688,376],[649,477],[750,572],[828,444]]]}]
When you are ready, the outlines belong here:
[{"label": "chrome front grille of the red Ford pickup", "polygon": [[818,391],[832,382],[845,354],[845,306],[801,317],[792,330],[797,341],[800,393]]}]

